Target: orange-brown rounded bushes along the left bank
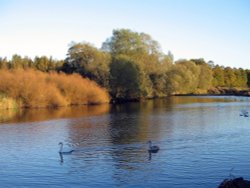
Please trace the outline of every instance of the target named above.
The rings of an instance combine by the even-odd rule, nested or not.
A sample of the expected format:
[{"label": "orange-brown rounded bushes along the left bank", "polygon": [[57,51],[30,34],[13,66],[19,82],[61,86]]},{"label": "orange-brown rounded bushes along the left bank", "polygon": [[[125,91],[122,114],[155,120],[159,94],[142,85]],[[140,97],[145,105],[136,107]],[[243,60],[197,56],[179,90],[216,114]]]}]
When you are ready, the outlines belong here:
[{"label": "orange-brown rounded bushes along the left bank", "polygon": [[80,75],[36,70],[0,70],[0,93],[20,107],[58,107],[109,101],[107,91]]}]

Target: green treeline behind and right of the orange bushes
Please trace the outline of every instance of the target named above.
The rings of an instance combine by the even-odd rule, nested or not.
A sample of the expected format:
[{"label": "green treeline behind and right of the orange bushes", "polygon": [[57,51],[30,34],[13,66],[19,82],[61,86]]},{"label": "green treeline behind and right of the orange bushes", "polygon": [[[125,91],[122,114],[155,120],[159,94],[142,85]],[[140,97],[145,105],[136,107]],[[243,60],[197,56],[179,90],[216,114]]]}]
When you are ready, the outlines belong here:
[{"label": "green treeline behind and right of the orange bushes", "polygon": [[13,56],[0,59],[0,68],[34,68],[40,71],[79,73],[105,87],[114,100],[139,100],[171,94],[203,94],[218,87],[250,86],[250,71],[214,65],[204,59],[178,60],[164,54],[150,35],[118,29],[100,49],[73,43],[67,58]]}]

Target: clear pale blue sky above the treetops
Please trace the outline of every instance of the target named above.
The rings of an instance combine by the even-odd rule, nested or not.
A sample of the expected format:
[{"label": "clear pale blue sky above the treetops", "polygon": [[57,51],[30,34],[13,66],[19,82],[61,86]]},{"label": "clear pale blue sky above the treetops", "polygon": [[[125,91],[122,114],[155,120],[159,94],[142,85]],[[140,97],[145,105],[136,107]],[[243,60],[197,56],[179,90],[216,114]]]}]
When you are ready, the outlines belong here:
[{"label": "clear pale blue sky above the treetops", "polygon": [[145,32],[175,60],[250,69],[250,0],[0,0],[0,56],[66,57],[113,29]]}]

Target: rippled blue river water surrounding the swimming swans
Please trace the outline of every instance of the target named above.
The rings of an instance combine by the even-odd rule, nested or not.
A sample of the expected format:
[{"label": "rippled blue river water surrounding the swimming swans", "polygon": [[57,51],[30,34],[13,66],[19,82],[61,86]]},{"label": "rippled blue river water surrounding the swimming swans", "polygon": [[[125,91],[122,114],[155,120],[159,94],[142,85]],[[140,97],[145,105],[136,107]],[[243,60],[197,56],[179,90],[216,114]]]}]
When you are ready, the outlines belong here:
[{"label": "rippled blue river water surrounding the swimming swans", "polygon": [[[250,179],[244,97],[1,112],[1,187],[217,187]],[[160,147],[151,156],[147,141]],[[70,155],[58,154],[58,142]]]}]

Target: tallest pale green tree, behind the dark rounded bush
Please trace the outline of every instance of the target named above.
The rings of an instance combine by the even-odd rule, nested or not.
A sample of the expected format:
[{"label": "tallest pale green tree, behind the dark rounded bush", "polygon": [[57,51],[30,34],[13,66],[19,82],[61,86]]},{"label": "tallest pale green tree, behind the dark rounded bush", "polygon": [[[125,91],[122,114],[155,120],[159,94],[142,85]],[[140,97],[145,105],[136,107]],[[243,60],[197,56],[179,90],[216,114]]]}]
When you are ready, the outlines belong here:
[{"label": "tallest pale green tree, behind the dark rounded bush", "polygon": [[128,29],[114,30],[113,36],[103,43],[102,50],[109,52],[113,59],[123,55],[136,64],[140,80],[137,96],[152,98],[170,93],[167,90],[166,72],[173,63],[173,55],[171,52],[163,54],[158,42],[148,34]]}]

